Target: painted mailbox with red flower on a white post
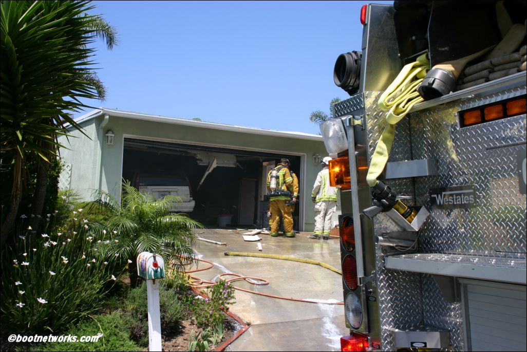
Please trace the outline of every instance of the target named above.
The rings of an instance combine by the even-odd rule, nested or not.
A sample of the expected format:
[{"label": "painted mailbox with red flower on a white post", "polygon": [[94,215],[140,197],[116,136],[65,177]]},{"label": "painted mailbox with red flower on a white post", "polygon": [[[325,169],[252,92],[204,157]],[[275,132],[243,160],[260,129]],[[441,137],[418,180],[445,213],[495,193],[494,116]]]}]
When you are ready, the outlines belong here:
[{"label": "painted mailbox with red flower on a white post", "polygon": [[161,314],[159,308],[159,280],[164,278],[164,260],[150,252],[137,256],[137,273],[147,280],[148,339],[150,351],[161,351]]}]

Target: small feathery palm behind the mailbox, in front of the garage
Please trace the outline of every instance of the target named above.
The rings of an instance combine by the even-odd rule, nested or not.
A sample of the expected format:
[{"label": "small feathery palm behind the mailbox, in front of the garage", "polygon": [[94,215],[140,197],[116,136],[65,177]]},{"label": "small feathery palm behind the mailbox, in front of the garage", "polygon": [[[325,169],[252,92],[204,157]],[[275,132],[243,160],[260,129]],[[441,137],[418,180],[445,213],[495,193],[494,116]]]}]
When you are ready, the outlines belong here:
[{"label": "small feathery palm behind the mailbox, in front of the garage", "polygon": [[129,265],[132,287],[137,283],[135,259],[139,253],[148,251],[163,257],[174,269],[182,270],[183,265],[193,258],[194,229],[202,225],[187,214],[170,213],[173,202],[180,198],[167,195],[159,200],[151,194],[139,192],[129,181],[123,180],[123,197],[119,202],[112,194],[95,191],[93,205],[99,206],[109,216],[104,224],[95,224],[95,232],[108,229],[114,233],[113,242],[102,246],[100,251],[118,253],[132,262]]}]

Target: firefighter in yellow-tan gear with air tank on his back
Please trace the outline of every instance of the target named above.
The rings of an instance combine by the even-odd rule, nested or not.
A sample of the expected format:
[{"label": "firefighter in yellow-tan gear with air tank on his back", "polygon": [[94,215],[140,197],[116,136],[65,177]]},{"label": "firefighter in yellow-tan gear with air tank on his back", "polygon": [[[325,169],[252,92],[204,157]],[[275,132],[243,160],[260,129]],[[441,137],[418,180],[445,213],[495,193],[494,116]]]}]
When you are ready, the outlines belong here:
[{"label": "firefighter in yellow-tan gear with air tank on his back", "polygon": [[267,174],[267,190],[269,195],[269,210],[271,211],[271,236],[278,236],[280,214],[284,220],[286,237],[295,237],[293,219],[291,216],[291,194],[293,178],[289,172],[289,160],[281,159],[276,168]]}]

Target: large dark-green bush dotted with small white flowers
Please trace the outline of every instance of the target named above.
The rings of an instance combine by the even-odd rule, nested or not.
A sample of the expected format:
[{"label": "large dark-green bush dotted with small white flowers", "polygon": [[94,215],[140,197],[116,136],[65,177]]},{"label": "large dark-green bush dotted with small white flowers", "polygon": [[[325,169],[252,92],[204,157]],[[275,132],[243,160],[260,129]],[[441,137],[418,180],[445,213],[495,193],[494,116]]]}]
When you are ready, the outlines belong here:
[{"label": "large dark-green bush dotted with small white flowers", "polygon": [[[13,247],[2,253],[3,333],[50,333],[100,309],[103,298],[122,273],[119,256],[101,256],[93,243],[109,241],[91,232],[82,209],[63,195],[55,216],[70,213],[61,230],[31,228],[18,232]],[[60,221],[59,221],[60,222]]]}]

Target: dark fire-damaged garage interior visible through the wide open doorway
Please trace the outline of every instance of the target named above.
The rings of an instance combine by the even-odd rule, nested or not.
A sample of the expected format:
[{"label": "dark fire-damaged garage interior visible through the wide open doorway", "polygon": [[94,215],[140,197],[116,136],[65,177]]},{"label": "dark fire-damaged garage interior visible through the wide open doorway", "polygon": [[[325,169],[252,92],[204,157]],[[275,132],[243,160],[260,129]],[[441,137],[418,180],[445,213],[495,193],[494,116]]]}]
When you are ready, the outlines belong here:
[{"label": "dark fire-damaged garage interior visible through the wide open doorway", "polygon": [[[154,197],[172,190],[182,210],[207,227],[266,228],[266,176],[281,158],[300,181],[298,155],[125,138],[122,176]],[[296,231],[303,228],[300,208],[293,213]]]}]

